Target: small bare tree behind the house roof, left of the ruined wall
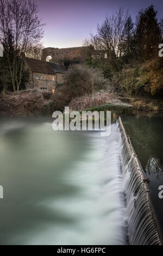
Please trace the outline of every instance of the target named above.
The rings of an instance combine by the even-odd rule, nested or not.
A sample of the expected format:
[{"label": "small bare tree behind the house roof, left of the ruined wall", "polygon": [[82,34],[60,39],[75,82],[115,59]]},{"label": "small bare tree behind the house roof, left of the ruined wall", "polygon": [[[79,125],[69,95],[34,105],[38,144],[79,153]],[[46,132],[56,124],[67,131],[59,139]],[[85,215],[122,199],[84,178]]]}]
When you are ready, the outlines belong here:
[{"label": "small bare tree behind the house roof, left of the ruined wall", "polygon": [[26,51],[26,57],[41,60],[42,49],[43,45],[41,43],[37,45],[29,45]]}]

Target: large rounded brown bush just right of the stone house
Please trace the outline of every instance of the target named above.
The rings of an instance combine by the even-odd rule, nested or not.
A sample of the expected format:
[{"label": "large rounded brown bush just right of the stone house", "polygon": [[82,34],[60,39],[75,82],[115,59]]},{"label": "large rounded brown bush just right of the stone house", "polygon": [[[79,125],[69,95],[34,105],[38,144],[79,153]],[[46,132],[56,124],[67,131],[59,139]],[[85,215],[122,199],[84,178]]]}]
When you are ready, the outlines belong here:
[{"label": "large rounded brown bush just right of the stone house", "polygon": [[63,111],[74,98],[90,94],[93,98],[95,90],[101,88],[107,88],[107,80],[101,71],[84,65],[72,65],[64,75],[64,85],[59,85],[55,89],[49,107],[53,111]]}]

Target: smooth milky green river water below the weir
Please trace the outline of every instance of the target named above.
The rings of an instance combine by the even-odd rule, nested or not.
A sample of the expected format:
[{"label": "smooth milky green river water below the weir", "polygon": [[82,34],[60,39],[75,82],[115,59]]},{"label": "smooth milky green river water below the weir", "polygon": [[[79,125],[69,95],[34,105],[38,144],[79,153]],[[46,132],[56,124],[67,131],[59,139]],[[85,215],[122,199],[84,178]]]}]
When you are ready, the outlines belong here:
[{"label": "smooth milky green river water below the weir", "polygon": [[120,132],[0,119],[1,245],[125,245]]}]

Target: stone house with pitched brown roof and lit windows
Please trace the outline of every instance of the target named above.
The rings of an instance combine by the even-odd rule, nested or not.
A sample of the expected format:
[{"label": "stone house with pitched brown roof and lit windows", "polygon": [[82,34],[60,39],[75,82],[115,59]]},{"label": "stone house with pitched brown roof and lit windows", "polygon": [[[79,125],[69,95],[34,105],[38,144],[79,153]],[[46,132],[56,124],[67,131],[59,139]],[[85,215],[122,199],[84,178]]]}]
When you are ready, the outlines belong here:
[{"label": "stone house with pitched brown roof and lit windows", "polygon": [[54,92],[57,84],[63,82],[63,75],[67,71],[64,65],[27,57],[24,60],[30,72],[28,89]]}]

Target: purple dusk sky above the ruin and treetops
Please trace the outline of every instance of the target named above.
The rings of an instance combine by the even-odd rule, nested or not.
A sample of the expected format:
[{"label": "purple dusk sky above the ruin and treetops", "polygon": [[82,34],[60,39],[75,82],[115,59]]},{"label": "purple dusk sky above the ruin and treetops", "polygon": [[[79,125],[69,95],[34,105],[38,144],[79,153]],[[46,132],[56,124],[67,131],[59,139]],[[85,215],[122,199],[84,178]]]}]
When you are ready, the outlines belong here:
[{"label": "purple dusk sky above the ruin and treetops", "polygon": [[119,7],[129,9],[131,17],[142,8],[154,4],[158,18],[163,17],[162,0],[35,0],[39,5],[39,17],[43,23],[45,47],[82,46],[90,32],[96,33],[97,23],[102,23],[106,14]]}]

